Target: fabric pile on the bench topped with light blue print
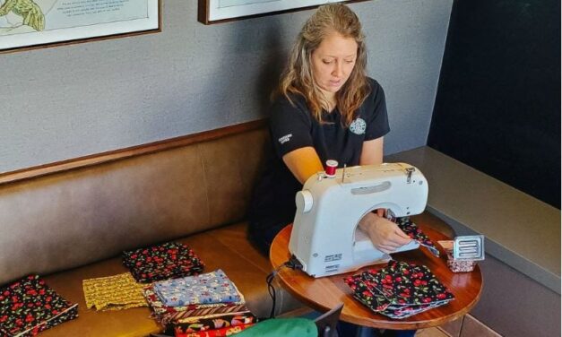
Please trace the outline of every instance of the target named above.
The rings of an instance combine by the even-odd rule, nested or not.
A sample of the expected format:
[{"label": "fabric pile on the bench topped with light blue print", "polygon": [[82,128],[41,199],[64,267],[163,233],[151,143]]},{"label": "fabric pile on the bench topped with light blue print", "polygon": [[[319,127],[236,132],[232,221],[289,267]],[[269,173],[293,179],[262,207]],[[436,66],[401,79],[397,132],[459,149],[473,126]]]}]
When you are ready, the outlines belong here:
[{"label": "fabric pile on the bench topped with light blue print", "polygon": [[144,289],[155,318],[176,337],[226,336],[255,324],[244,296],[220,269]]}]

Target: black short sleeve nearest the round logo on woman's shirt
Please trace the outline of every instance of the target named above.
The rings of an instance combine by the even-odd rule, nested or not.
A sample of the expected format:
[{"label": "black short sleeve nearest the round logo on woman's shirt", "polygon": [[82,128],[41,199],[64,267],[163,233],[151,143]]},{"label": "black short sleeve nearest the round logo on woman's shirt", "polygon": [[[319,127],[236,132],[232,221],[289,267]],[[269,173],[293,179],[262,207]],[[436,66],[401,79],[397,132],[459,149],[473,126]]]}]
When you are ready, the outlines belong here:
[{"label": "black short sleeve nearest the round logo on woman's shirt", "polygon": [[364,118],[367,122],[365,141],[380,138],[390,131],[386,113],[386,99],[383,87],[375,80],[370,80],[371,93],[365,102]]}]

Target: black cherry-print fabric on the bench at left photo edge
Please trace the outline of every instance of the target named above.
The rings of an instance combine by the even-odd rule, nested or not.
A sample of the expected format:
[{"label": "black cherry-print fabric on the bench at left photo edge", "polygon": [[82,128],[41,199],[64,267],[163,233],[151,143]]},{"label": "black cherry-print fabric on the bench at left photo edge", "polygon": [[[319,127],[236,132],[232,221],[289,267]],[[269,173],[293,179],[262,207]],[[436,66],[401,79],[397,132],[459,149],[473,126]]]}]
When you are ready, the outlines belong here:
[{"label": "black cherry-print fabric on the bench at left photo edge", "polygon": [[0,289],[0,336],[34,336],[78,316],[72,304],[30,275]]}]

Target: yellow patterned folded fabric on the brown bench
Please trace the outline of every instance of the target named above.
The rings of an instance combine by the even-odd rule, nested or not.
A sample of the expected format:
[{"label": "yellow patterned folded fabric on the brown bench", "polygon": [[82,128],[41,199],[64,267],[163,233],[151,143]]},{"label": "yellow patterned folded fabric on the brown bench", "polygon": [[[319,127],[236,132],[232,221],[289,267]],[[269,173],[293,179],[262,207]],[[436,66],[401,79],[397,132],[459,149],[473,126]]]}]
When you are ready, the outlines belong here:
[{"label": "yellow patterned folded fabric on the brown bench", "polygon": [[95,307],[97,310],[148,307],[143,297],[144,286],[134,281],[129,272],[82,281],[86,307]]}]

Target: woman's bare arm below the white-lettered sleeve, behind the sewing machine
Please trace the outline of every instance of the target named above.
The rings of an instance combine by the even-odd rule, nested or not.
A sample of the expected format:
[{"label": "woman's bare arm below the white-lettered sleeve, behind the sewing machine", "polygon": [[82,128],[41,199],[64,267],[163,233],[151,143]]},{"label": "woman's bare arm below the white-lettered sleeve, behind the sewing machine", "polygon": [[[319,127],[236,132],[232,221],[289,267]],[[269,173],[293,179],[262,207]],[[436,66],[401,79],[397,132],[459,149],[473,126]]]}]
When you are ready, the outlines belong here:
[{"label": "woman's bare arm below the white-lettered sleeve, behind the sewing machine", "polygon": [[282,158],[285,165],[287,165],[300,184],[304,184],[316,172],[324,170],[320,157],[318,157],[316,150],[312,146],[290,151]]}]

